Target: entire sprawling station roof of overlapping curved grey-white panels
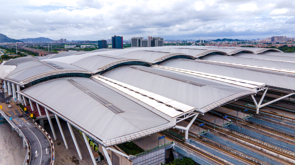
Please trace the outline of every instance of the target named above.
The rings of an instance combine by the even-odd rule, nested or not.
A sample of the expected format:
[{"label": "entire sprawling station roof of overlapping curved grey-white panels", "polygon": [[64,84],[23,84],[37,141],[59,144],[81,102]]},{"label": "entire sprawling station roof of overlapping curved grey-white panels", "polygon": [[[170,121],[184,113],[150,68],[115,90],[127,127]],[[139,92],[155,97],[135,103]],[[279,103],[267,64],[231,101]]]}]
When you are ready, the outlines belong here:
[{"label": "entire sprawling station roof of overlapping curved grey-white panels", "polygon": [[[250,59],[224,61],[226,55],[264,50],[278,51],[163,46],[68,52],[6,61],[0,77],[21,85],[19,93],[108,147],[169,129],[184,114],[204,114],[264,86],[293,90],[286,82],[295,76],[284,72],[290,68],[271,70],[250,65]],[[194,60],[216,54],[224,59]],[[278,75],[286,82],[276,81]]]}]

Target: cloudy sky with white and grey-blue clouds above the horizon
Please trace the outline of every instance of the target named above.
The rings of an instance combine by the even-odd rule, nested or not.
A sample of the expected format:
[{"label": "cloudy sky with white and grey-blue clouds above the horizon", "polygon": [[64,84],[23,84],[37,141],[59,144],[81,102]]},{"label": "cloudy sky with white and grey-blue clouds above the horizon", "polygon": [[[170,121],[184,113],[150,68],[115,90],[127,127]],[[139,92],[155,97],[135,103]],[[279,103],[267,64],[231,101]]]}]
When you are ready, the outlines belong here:
[{"label": "cloudy sky with white and grey-blue clouds above the horizon", "polygon": [[0,0],[10,38],[295,37],[294,0]]}]

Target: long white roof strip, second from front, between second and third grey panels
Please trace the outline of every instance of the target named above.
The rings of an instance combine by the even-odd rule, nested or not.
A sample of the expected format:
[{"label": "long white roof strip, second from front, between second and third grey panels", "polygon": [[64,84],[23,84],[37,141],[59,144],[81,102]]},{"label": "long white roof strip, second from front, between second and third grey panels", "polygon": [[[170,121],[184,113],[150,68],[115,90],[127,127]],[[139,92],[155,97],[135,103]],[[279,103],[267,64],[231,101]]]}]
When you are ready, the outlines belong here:
[{"label": "long white roof strip, second from front, between second and third grey panels", "polygon": [[218,81],[222,81],[222,82],[226,82],[226,83],[230,83],[230,84],[235,84],[235,85],[239,85],[239,86],[243,86],[243,87],[248,87],[248,88],[252,88],[252,89],[255,89],[259,86],[266,85],[265,83],[258,83],[258,82],[249,81],[249,80],[242,80],[242,79],[238,79],[238,78],[231,78],[231,77],[214,75],[214,74],[209,74],[209,73],[202,73],[202,72],[197,72],[197,71],[195,72],[192,70],[172,68],[172,67],[167,67],[167,66],[155,65],[153,67],[173,70],[173,71],[182,72],[182,73],[187,73],[187,74],[195,75],[198,77],[209,78],[212,80],[218,80]]}]

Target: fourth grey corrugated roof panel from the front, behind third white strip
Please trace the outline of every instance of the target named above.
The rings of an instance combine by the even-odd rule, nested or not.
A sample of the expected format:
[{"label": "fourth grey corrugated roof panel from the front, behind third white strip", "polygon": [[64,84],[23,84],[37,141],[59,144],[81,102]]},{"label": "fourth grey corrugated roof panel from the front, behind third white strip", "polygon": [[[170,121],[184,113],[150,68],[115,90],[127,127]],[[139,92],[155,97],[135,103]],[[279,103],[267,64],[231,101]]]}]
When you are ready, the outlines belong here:
[{"label": "fourth grey corrugated roof panel from the front, behind third white strip", "polygon": [[202,60],[295,70],[295,63],[263,60],[263,59],[250,59],[250,58],[224,56],[224,55],[209,55],[202,58]]}]

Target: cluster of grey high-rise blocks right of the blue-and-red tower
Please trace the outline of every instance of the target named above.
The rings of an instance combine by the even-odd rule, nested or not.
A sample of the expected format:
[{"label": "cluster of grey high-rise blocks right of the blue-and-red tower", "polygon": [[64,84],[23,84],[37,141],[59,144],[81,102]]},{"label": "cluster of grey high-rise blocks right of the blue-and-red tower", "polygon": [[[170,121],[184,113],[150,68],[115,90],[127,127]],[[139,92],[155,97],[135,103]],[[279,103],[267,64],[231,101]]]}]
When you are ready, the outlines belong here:
[{"label": "cluster of grey high-rise blocks right of the blue-and-red tower", "polygon": [[161,37],[151,37],[148,36],[148,39],[143,37],[133,37],[131,38],[131,47],[155,47],[163,46],[164,38]]}]

